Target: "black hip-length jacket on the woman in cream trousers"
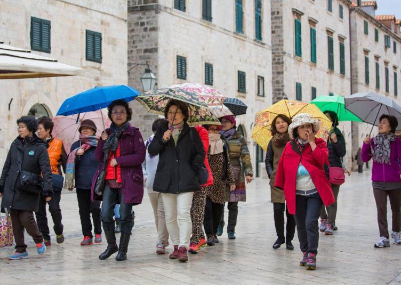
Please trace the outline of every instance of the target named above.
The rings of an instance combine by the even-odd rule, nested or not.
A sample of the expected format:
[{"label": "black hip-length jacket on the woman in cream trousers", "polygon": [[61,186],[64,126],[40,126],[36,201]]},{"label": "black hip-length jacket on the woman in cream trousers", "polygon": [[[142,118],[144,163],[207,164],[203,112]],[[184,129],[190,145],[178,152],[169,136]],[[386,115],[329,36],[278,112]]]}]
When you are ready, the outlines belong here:
[{"label": "black hip-length jacket on the woman in cream trousers", "polygon": [[[196,129],[190,128],[187,123],[184,123],[177,146],[175,146],[172,136],[167,143],[163,143],[161,140],[167,128],[167,122],[161,125],[148,146],[149,155],[159,155],[153,190],[169,194],[199,190],[197,173],[202,167],[206,155],[199,134]],[[189,131],[192,131],[193,147]],[[194,154],[192,154],[192,148]]]}]

